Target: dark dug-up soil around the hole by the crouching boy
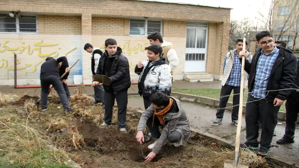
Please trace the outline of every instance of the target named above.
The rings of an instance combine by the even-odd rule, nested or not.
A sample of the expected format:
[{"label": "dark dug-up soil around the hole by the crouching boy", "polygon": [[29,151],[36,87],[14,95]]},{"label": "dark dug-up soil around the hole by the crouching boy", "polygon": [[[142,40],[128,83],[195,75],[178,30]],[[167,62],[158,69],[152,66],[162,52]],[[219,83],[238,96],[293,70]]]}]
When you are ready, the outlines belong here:
[{"label": "dark dug-up soil around the hole by the crouching boy", "polygon": [[[124,153],[124,159],[143,162],[144,156],[147,156],[151,150],[148,145],[154,142],[146,142],[145,144],[137,143],[134,133],[121,133],[117,125],[112,125],[107,128],[99,128],[96,124],[81,124],[78,127],[78,132],[83,135],[86,147],[90,150],[100,152],[102,154]],[[142,151],[141,151],[142,147]],[[171,149],[170,149],[171,148]],[[174,146],[164,147],[152,161],[158,161],[161,156],[167,156],[167,151],[180,152],[180,147]]]}]

